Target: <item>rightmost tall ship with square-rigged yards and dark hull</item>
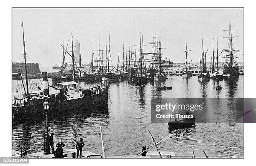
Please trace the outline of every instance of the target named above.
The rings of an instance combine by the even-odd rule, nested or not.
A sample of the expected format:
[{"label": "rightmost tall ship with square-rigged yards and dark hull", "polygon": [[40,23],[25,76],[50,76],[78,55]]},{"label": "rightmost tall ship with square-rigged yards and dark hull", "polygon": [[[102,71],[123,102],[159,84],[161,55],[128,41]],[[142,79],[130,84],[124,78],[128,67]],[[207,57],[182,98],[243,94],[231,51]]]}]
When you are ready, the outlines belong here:
[{"label": "rightmost tall ship with square-rigged yards and dark hull", "polygon": [[223,67],[223,77],[239,77],[239,66],[236,62],[235,58],[239,58],[235,56],[235,52],[240,52],[239,50],[235,50],[233,47],[233,37],[238,36],[232,36],[232,32],[236,30],[231,29],[231,25],[229,25],[229,30],[223,30],[225,32],[229,32],[229,36],[223,36],[223,38],[228,38],[228,49],[223,50],[224,53],[226,53],[223,57],[225,58],[225,63]]}]

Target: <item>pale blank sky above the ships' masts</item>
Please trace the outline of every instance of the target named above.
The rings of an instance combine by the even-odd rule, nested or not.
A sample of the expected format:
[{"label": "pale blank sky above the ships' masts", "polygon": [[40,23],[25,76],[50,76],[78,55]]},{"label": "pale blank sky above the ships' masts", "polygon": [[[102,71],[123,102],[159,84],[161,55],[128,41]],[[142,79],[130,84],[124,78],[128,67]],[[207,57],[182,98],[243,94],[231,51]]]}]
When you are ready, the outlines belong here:
[{"label": "pale blank sky above the ships' masts", "polygon": [[[212,38],[218,37],[219,52],[227,49],[229,23],[234,36],[235,49],[241,51],[238,57],[243,61],[243,9],[13,9],[13,61],[22,62],[22,28],[24,22],[26,47],[31,60],[39,63],[41,70],[49,70],[61,64],[60,45],[69,40],[78,40],[82,61],[89,63],[92,56],[92,36],[97,55],[98,36],[103,46],[108,42],[110,28],[110,49],[116,66],[120,47],[138,45],[140,32],[143,34],[144,52],[151,52],[152,36],[161,36],[162,53],[173,62],[184,59],[187,42],[189,59],[199,62],[202,55],[202,36],[206,41],[207,61],[212,56]],[[133,47],[135,50],[135,47]],[[215,50],[216,52],[216,50]],[[68,55],[67,55],[68,56]]]}]

